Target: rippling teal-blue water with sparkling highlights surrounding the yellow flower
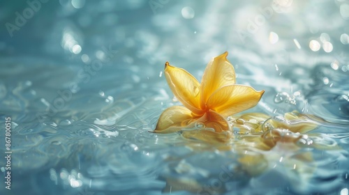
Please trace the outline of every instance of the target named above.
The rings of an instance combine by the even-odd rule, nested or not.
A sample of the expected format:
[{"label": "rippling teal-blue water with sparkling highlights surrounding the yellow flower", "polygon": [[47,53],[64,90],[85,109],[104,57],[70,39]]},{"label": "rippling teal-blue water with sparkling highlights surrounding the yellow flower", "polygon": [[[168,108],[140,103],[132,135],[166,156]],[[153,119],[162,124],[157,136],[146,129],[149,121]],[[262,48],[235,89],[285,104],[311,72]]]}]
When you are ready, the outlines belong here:
[{"label": "rippling teal-blue water with sparkling highlights surrounding the yellow flower", "polygon": [[[27,8],[0,6],[0,150],[10,117],[13,152],[10,190],[0,158],[0,194],[348,194],[348,1],[59,0],[36,4],[34,15]],[[16,23],[16,12],[28,19]],[[313,160],[300,171],[288,148],[256,152],[267,162],[255,166],[269,169],[251,176],[239,169],[237,150],[148,132],[179,104],[164,62],[200,79],[225,51],[239,84],[266,91],[250,111],[327,120],[311,132],[327,148],[303,147]]]}]

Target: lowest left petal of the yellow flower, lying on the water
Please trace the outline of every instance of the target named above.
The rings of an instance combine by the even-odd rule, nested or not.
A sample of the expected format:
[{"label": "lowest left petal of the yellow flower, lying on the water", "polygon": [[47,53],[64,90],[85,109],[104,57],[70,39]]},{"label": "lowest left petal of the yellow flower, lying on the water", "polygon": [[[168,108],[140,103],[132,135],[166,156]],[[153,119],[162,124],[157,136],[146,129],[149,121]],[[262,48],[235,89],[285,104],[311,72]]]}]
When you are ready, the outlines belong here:
[{"label": "lowest left petal of the yellow flower, lying on the water", "polygon": [[181,106],[165,109],[158,119],[155,133],[178,132],[193,121],[191,111]]}]

